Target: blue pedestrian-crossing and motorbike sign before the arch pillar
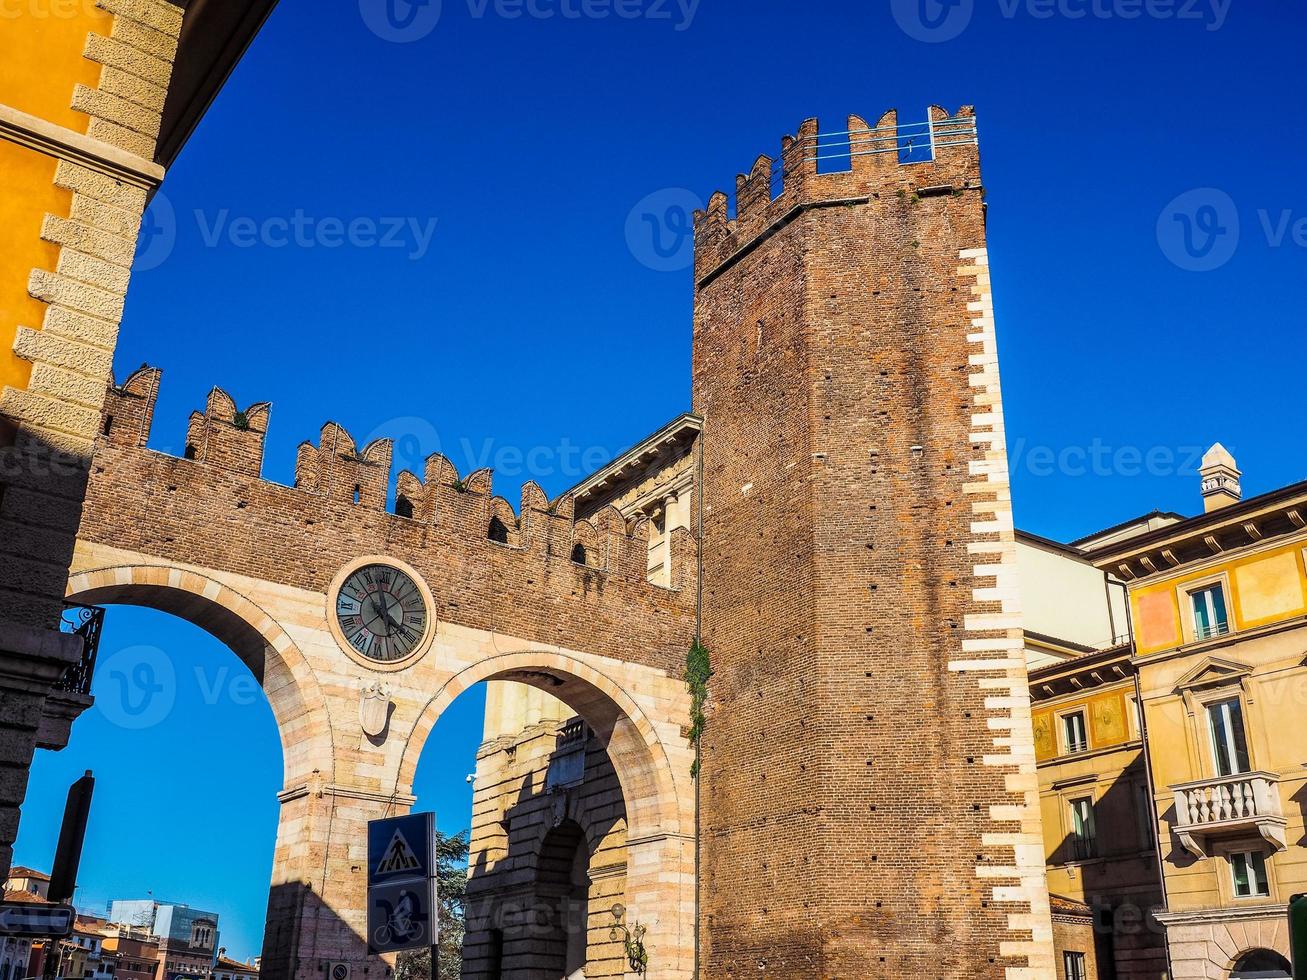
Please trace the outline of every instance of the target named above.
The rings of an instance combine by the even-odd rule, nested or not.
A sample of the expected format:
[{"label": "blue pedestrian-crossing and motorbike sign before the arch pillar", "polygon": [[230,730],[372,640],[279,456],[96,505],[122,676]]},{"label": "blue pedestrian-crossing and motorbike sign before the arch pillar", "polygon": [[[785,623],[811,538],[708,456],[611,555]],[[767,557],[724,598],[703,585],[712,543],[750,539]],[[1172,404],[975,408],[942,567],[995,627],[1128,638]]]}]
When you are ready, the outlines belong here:
[{"label": "blue pedestrian-crossing and motorbike sign before the arch pillar", "polygon": [[435,821],[430,813],[367,825],[367,949],[396,953],[434,946]]}]

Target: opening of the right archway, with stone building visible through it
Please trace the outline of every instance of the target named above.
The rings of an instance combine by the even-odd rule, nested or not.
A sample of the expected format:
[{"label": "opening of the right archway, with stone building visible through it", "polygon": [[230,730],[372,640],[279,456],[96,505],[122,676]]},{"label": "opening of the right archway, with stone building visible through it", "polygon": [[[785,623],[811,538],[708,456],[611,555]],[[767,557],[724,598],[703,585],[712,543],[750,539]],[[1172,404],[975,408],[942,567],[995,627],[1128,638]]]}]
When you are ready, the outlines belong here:
[{"label": "opening of the right archway, with stone building visible through it", "polygon": [[440,712],[414,780],[418,809],[427,809],[430,796],[448,798],[448,789],[429,788],[439,767],[452,781],[446,760],[451,747],[463,751],[464,733],[447,732],[446,720],[469,695],[480,702],[480,691],[457,976],[623,975],[622,943],[613,937],[629,902],[626,788],[650,781],[648,772],[630,771],[634,723],[621,723],[625,716],[596,687],[554,666],[498,672]]}]

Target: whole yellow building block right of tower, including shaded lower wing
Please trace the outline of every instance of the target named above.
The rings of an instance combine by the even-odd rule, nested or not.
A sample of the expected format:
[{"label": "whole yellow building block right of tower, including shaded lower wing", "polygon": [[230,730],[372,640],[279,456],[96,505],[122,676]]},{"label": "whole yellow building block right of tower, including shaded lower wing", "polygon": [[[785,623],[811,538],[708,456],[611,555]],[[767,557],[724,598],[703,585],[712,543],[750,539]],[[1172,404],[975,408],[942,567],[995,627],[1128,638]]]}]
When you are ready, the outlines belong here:
[{"label": "whole yellow building block right of tower, including shaded lower wing", "polygon": [[1077,541],[1132,642],[1031,670],[1050,889],[1095,907],[1120,977],[1289,976],[1307,891],[1307,483]]}]

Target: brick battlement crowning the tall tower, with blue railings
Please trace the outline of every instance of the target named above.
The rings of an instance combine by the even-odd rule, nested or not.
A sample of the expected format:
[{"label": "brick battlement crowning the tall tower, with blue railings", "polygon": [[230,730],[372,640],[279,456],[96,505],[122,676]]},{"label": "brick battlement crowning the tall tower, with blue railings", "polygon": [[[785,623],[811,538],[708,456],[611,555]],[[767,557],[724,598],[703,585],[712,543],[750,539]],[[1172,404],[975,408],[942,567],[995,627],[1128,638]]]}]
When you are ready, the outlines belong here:
[{"label": "brick battlement crowning the tall tower, with blue railings", "polygon": [[780,155],[759,155],[736,176],[735,209],[723,191],[694,216],[694,274],[702,282],[802,209],[856,204],[886,195],[904,200],[980,189],[975,110],[931,106],[925,122],[901,124],[889,110],[869,125],[851,115],[839,132],[805,119],[784,136]]}]

